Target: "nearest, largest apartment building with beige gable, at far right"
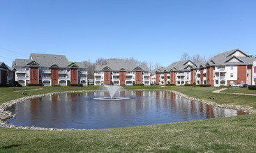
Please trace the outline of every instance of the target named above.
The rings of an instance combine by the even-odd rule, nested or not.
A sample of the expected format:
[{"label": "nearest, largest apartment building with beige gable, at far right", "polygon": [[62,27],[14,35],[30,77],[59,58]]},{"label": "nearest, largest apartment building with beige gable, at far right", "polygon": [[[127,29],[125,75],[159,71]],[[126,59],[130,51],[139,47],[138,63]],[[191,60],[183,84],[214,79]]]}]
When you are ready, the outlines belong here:
[{"label": "nearest, largest apartment building with beige gable, at far right", "polygon": [[253,61],[240,49],[225,51],[206,63],[196,63],[191,68],[191,83],[229,86],[233,83],[253,84]]}]

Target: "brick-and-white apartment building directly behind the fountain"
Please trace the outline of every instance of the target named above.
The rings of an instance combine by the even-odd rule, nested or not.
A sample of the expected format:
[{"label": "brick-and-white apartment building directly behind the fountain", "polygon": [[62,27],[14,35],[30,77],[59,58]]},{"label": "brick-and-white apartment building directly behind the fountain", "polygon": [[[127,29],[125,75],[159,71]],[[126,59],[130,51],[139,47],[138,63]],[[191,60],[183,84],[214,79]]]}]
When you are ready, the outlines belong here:
[{"label": "brick-and-white apartment building directly behind the fountain", "polygon": [[96,65],[94,85],[150,85],[150,73],[146,65],[136,65],[135,61],[109,60],[107,65]]}]

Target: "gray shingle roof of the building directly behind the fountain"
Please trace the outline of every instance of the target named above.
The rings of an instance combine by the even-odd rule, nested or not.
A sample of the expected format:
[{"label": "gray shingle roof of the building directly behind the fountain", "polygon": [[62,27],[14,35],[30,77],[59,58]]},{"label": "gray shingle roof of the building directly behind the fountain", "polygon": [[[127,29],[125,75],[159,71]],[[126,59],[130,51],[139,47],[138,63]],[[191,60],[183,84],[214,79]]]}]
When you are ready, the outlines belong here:
[{"label": "gray shingle roof of the building directly behind the fountain", "polygon": [[112,71],[135,71],[136,67],[140,67],[142,71],[149,71],[149,68],[146,65],[136,65],[135,61],[129,60],[108,60],[107,65],[96,65],[95,70],[101,71],[105,67],[110,67]]}]

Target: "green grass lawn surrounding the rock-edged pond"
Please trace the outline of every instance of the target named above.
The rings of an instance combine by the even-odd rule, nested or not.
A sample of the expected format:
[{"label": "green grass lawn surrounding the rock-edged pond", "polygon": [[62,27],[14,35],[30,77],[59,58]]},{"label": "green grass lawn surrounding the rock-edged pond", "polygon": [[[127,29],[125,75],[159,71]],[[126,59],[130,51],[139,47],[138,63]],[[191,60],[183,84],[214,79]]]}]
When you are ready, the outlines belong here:
[{"label": "green grass lawn surrounding the rock-edged pond", "polygon": [[[86,87],[0,88],[0,103],[28,95],[66,90],[98,90]],[[176,90],[190,97],[218,104],[256,108],[256,98],[212,93],[219,88],[185,86],[124,86],[126,90]],[[20,92],[16,92],[20,90]],[[241,89],[243,90],[243,89]],[[23,91],[24,92],[24,91]],[[170,124],[85,131],[33,131],[0,128],[0,152],[255,152],[256,115],[194,120]]]}]

